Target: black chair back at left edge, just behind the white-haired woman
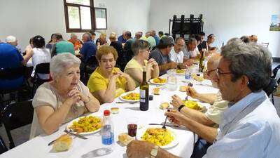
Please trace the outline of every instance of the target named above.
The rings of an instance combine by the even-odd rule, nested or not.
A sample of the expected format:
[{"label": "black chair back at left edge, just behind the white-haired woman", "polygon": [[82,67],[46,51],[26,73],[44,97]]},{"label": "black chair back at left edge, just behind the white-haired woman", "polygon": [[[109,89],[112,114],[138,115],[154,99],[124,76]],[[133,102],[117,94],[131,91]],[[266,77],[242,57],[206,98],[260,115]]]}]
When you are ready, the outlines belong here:
[{"label": "black chair back at left edge, just behind the white-haired woman", "polygon": [[7,105],[1,112],[1,121],[5,126],[10,148],[15,147],[10,131],[18,129],[27,124],[31,124],[33,120],[34,107],[32,100],[26,100],[19,103],[11,103]]}]

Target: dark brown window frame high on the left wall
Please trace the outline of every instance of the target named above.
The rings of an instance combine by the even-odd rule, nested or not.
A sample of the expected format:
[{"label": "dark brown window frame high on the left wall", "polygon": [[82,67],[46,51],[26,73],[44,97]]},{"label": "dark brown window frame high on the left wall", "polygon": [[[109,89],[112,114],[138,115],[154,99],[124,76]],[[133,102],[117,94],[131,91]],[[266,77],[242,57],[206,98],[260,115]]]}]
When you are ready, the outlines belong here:
[{"label": "dark brown window frame high on the left wall", "polygon": [[[102,29],[107,29],[107,9],[106,8],[102,8],[105,9],[106,11],[106,28],[101,28],[101,29],[97,29],[96,28],[96,17],[95,17],[95,8],[94,8],[94,2],[93,0],[90,0],[90,6],[87,5],[83,5],[83,4],[71,4],[71,3],[67,3],[66,0],[64,1],[64,17],[65,17],[65,26],[66,26],[66,33],[69,32],[89,32],[91,30],[102,30]],[[69,27],[69,15],[68,15],[68,6],[74,6],[74,7],[78,7],[78,12],[79,12],[79,20],[80,20],[80,29],[72,29]],[[81,18],[80,18],[80,7],[88,7],[90,8],[90,20],[91,20],[91,25],[92,28],[91,29],[82,29],[82,22],[81,22]]]}]

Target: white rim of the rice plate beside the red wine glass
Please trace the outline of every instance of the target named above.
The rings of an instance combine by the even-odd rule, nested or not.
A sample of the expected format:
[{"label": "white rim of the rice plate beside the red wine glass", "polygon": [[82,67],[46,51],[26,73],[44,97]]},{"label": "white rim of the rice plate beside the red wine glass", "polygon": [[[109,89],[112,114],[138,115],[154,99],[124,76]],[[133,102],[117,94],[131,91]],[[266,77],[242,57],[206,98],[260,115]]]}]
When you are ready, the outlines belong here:
[{"label": "white rim of the rice plate beside the red wine glass", "polygon": [[[137,140],[142,140],[141,136],[143,136],[144,133],[146,132],[146,130],[149,129],[149,128],[162,128],[162,126],[160,126],[160,125],[147,125],[147,126],[144,126],[144,128],[137,129],[137,136],[136,136]],[[165,146],[160,146],[164,149],[167,149],[169,147],[174,147],[175,145],[177,145],[179,143],[179,139],[178,139],[174,129],[172,129],[168,126],[166,128],[167,128],[167,130],[169,130],[172,133],[172,136],[174,136],[174,140],[171,143],[169,143]]]}]

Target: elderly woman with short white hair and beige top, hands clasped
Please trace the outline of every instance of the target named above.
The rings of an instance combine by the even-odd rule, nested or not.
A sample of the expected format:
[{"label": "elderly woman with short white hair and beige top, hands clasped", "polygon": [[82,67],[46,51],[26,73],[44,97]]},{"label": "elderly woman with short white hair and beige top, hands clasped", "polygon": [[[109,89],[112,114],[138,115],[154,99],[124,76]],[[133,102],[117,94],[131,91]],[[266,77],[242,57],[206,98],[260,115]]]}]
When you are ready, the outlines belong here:
[{"label": "elderly woman with short white hair and beige top, hands clasped", "polygon": [[71,119],[86,112],[97,112],[99,101],[80,81],[80,59],[61,53],[50,61],[53,81],[38,87],[33,99],[34,117],[30,138],[50,135]]}]

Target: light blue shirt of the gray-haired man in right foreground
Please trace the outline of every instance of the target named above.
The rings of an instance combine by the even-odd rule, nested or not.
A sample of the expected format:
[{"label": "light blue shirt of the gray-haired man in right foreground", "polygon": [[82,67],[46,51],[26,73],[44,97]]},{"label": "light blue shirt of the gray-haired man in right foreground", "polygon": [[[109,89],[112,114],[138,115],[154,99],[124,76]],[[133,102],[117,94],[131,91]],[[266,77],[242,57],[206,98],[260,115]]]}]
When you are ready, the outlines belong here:
[{"label": "light blue shirt of the gray-haired man in right foreground", "polygon": [[216,142],[203,158],[279,157],[279,129],[280,118],[265,92],[250,93],[229,104]]}]

